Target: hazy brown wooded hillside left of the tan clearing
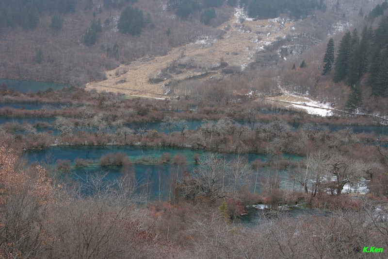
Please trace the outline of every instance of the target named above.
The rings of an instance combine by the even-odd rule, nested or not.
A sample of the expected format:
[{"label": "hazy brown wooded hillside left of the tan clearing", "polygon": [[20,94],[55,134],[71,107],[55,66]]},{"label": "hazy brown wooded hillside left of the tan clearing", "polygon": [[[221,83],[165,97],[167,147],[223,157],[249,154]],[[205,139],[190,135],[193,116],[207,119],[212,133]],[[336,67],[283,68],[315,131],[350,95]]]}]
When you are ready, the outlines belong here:
[{"label": "hazy brown wooded hillside left of the tan clearing", "polygon": [[[204,22],[216,26],[231,10],[219,6]],[[82,86],[119,64],[221,34],[196,23],[200,13],[184,20],[174,14],[159,0],[1,0],[0,78]]]}]

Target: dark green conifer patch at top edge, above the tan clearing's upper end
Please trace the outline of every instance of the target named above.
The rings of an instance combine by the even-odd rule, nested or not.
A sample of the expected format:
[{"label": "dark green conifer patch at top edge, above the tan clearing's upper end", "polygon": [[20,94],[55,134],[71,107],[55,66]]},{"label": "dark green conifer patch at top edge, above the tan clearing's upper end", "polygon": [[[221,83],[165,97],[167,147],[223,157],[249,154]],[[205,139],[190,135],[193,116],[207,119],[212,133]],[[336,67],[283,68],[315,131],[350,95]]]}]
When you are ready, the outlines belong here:
[{"label": "dark green conifer patch at top edge, above the tan clearing's upper end", "polygon": [[247,5],[248,15],[259,19],[275,18],[282,13],[300,19],[315,9],[326,10],[326,5],[317,0],[250,0]]}]

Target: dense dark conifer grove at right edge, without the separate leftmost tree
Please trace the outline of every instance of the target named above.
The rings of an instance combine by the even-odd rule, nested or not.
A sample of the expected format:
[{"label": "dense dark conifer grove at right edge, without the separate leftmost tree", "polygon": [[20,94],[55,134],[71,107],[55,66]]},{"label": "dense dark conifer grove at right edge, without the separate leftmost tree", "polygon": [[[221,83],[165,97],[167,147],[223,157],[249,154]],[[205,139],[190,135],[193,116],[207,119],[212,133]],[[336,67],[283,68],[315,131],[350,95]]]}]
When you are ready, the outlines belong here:
[{"label": "dense dark conifer grove at right edge, without the separate leftmost tree", "polygon": [[378,27],[364,26],[361,34],[354,29],[343,35],[335,61],[334,82],[346,80],[351,87],[347,107],[351,110],[362,105],[363,91],[359,80],[369,72],[368,86],[372,95],[388,96],[388,17]]}]

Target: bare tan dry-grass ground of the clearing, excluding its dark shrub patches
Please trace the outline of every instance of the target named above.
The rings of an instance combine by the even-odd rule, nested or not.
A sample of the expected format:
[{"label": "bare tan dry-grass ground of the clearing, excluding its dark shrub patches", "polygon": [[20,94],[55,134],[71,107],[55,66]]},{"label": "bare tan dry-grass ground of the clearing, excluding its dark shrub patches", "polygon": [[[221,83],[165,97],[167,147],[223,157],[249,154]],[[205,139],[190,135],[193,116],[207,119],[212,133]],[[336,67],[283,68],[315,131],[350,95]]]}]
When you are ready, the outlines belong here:
[{"label": "bare tan dry-grass ground of the clearing, excluding its dark shrub patches", "polygon": [[[169,80],[182,80],[191,76],[203,74],[207,69],[220,66],[221,58],[229,66],[239,66],[244,69],[255,59],[255,53],[265,45],[270,44],[276,37],[284,37],[295,31],[296,22],[284,22],[281,20],[267,19],[258,21],[244,21],[238,23],[236,17],[222,24],[219,29],[225,29],[223,39],[212,39],[204,35],[198,37],[195,43],[174,48],[165,56],[153,56],[140,58],[132,62],[129,66],[122,65],[118,71],[128,70],[125,74],[116,75],[116,70],[107,72],[107,80],[89,83],[87,89],[96,88],[97,91],[121,92],[126,95],[161,97],[166,91],[164,87]],[[260,32],[264,35],[258,35]],[[261,38],[260,40],[257,40]],[[151,84],[150,77],[155,77],[160,71],[173,62],[184,68],[181,73],[172,74],[172,78],[161,78],[161,82]],[[199,69],[200,67],[200,69]],[[214,72],[214,71],[213,71]],[[213,77],[222,77],[219,70],[215,71]]]}]

